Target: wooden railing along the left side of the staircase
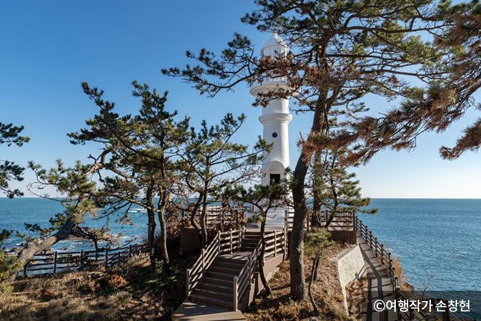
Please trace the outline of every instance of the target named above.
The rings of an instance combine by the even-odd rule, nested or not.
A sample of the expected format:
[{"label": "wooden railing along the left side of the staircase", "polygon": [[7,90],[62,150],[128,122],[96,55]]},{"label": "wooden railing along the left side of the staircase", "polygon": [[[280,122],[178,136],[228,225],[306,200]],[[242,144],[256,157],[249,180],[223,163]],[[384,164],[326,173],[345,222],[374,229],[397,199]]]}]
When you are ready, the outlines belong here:
[{"label": "wooden railing along the left side of the staircase", "polygon": [[201,256],[197,258],[192,268],[186,272],[186,298],[189,300],[190,293],[197,283],[205,276],[215,258],[224,253],[232,253],[240,249],[243,240],[243,229],[217,232],[209,245],[201,250]]}]

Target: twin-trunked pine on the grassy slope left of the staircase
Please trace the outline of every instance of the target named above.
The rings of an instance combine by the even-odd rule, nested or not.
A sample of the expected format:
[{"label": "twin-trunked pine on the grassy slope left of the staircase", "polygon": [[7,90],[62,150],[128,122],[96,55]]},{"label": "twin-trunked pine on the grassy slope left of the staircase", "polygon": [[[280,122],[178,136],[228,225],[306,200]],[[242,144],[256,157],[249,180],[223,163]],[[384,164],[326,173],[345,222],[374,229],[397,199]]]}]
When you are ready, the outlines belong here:
[{"label": "twin-trunked pine on the grassy slope left of the staircase", "polygon": [[[157,93],[148,85],[133,82],[133,96],[142,99],[137,115],[120,116],[115,103],[103,99],[103,91],[84,82],[82,88],[100,109],[87,120],[87,129],[70,133],[73,144],[98,142],[109,160],[105,177],[101,179],[104,199],[109,199],[109,211],[124,212],[121,222],[129,221],[128,209],[133,204],[142,206],[148,216],[148,246],[150,262],[155,267],[155,214],[158,215],[161,236],[161,256],[164,271],[169,272],[167,248],[168,226],[166,214],[172,207],[171,193],[179,183],[183,170],[175,159],[178,146],[188,139],[189,120],[177,122],[177,111],[166,109],[167,93]],[[181,169],[181,168],[180,168]],[[158,197],[158,201],[155,201]]]}]

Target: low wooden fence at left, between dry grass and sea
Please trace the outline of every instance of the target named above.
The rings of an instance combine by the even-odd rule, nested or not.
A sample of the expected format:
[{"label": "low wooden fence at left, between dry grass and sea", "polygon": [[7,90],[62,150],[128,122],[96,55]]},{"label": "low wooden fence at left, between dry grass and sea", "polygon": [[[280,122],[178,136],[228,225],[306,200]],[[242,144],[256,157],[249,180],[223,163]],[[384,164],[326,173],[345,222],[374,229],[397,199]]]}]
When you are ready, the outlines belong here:
[{"label": "low wooden fence at left, between dry grass and sea", "polygon": [[83,269],[91,263],[101,263],[112,267],[128,261],[128,258],[140,252],[146,252],[147,245],[135,244],[114,249],[102,248],[98,251],[69,251],[36,254],[23,266],[23,275],[47,274],[67,269]]}]

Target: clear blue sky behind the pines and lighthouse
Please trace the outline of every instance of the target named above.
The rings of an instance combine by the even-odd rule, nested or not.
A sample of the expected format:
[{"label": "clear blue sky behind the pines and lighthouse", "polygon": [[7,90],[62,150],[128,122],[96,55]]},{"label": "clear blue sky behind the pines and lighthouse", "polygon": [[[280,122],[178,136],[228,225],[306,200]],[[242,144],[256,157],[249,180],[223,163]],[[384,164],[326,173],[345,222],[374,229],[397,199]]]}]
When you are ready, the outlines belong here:
[{"label": "clear blue sky behind the pines and lighthouse", "polygon": [[[168,107],[188,114],[195,125],[203,119],[214,124],[227,112],[245,113],[247,123],[237,139],[253,143],[262,128],[247,87],[210,99],[160,72],[185,65],[186,49],[219,52],[236,31],[260,49],[270,35],[240,23],[251,8],[247,0],[2,1],[0,121],[24,125],[32,140],[22,148],[0,146],[1,159],[53,166],[57,158],[73,164],[95,155],[98,146],[72,146],[65,135],[81,129],[97,111],[82,93],[82,81],[104,89],[121,114],[138,110],[138,100],[131,96],[133,80],[168,90]],[[379,110],[390,106],[375,98],[367,102]],[[452,145],[476,116],[479,112],[470,111],[442,135],[423,135],[414,151],[381,152],[357,168],[363,195],[480,198],[481,155],[467,153],[454,162],[438,157],[439,146]],[[294,115],[289,126],[291,166],[298,157],[295,142],[300,132],[309,131],[310,117]],[[25,190],[32,180],[27,170],[25,181],[12,186]]]}]

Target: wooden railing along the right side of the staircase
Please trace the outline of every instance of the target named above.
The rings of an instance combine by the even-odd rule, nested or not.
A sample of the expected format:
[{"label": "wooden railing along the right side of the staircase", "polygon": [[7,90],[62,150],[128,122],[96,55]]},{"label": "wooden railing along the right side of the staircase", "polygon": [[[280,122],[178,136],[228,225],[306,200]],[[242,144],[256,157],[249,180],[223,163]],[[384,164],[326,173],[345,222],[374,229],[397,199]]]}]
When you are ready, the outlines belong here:
[{"label": "wooden railing along the right side of the staircase", "polygon": [[[277,256],[282,252],[284,255],[287,253],[287,231],[273,230],[265,233],[265,253],[264,258],[268,256]],[[254,278],[254,272],[258,263],[258,258],[262,250],[262,241],[256,245],[256,248],[247,256],[247,262],[240,270],[239,276],[234,276],[234,298],[233,307],[234,311],[238,310],[239,300],[244,296],[245,291],[252,283]]]}]

